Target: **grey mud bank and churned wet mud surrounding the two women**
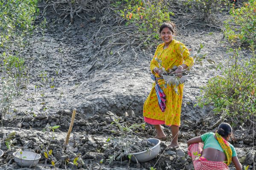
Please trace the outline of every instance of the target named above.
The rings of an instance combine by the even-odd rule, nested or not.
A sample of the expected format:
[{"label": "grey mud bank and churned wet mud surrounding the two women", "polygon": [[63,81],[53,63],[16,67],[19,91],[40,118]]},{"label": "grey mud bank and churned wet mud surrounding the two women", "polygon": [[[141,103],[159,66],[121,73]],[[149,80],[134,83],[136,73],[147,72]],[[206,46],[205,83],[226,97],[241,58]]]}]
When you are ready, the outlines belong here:
[{"label": "grey mud bank and churned wet mud surrounding the two women", "polygon": [[[50,20],[53,13],[49,11],[46,17]],[[91,35],[98,30],[97,22],[77,18],[73,25],[68,25],[69,21],[66,20],[59,25],[49,24],[43,35],[38,32],[32,36],[26,57],[29,82],[23,88],[22,95],[13,102],[10,113],[3,118],[0,137],[11,132],[16,132],[16,135],[11,150],[7,150],[4,143],[1,144],[4,155],[0,158],[0,169],[30,169],[20,168],[12,159],[12,153],[20,148],[41,154],[39,164],[31,168],[35,170],[53,169],[50,159],[55,162],[57,170],[193,169],[187,155],[186,141],[214,131],[210,127],[218,120],[218,116],[210,112],[211,107],[198,108],[194,105],[197,103],[196,96],[201,95],[200,88],[219,74],[214,69],[215,65],[207,62],[207,59],[218,63],[228,58],[226,50],[229,44],[223,33],[207,26],[194,28],[187,25],[174,37],[191,49],[192,54],[202,43],[204,48],[201,53],[207,54],[203,65],[195,64],[191,76],[184,83],[180,147],[166,149],[171,141],[171,130],[163,126],[168,138],[161,142],[157,158],[146,163],[129,163],[126,159],[122,163],[113,161],[109,164],[107,150],[111,148],[104,150],[103,146],[112,134],[114,127],[111,122],[122,116],[130,125],[143,123],[143,102],[153,83],[149,63],[154,51],[139,51],[135,61],[134,53],[126,51],[122,54],[122,62],[102,70],[102,65],[110,61],[97,56],[102,65],[93,65],[89,59],[95,48]],[[50,88],[50,85],[54,85],[54,88]],[[69,141],[73,148],[64,150],[63,143],[73,108],[77,109]],[[54,132],[47,128],[55,125],[60,127]],[[147,139],[153,137],[155,132],[151,125],[146,125],[145,130],[138,130],[138,134]],[[253,138],[252,133],[245,133],[245,129],[240,127],[235,129],[235,141],[231,142],[236,147],[240,161],[243,165],[250,165],[249,169],[256,161],[253,160]],[[52,150],[52,156],[45,164],[44,152],[49,150]],[[73,162],[79,154],[84,164],[72,166],[65,163],[66,159]],[[235,168],[230,165],[230,169]]]}]

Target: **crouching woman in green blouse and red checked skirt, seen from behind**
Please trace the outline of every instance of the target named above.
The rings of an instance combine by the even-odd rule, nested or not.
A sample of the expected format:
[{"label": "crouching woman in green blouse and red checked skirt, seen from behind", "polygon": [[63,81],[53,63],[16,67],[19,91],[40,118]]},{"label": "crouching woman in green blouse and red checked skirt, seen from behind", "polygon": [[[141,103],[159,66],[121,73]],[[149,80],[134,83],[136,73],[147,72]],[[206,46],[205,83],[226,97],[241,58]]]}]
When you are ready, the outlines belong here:
[{"label": "crouching woman in green blouse and red checked skirt, seen from behind", "polygon": [[229,170],[231,161],[236,170],[242,170],[235,148],[227,142],[231,135],[231,126],[221,123],[217,133],[209,132],[189,139],[188,154],[192,157],[195,170]]}]

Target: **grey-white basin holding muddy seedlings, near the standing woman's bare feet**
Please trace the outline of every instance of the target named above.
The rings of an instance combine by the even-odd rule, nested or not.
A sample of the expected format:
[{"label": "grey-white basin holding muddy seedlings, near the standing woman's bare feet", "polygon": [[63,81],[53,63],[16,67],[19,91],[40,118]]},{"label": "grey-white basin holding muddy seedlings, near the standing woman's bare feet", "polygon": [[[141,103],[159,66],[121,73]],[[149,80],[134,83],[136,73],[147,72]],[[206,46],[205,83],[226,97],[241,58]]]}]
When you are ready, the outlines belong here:
[{"label": "grey-white basin holding muddy seedlings, near the standing woman's bare feet", "polygon": [[[150,161],[151,159],[154,159],[159,151],[160,151],[160,140],[159,139],[147,139],[148,142],[156,144],[154,147],[151,147],[151,150],[144,150],[142,152],[132,153],[131,161],[137,162],[146,162]],[[135,159],[136,158],[136,159]]]}]

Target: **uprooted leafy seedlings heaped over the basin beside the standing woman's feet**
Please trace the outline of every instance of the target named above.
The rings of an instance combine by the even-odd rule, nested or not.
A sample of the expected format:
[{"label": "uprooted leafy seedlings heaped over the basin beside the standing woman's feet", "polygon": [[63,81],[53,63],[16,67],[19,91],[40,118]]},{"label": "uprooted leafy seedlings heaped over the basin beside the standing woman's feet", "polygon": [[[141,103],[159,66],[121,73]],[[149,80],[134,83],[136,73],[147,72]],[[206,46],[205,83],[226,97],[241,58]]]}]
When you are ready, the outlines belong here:
[{"label": "uprooted leafy seedlings heaped over the basin beside the standing woman's feet", "polygon": [[128,125],[121,117],[114,119],[111,125],[117,127],[116,130],[112,130],[112,135],[107,139],[105,144],[105,151],[110,149],[108,161],[111,163],[113,160],[124,160],[125,156],[131,159],[132,153],[141,152],[144,150],[150,150],[152,143],[147,140],[141,140],[136,132],[138,128],[145,128],[145,123]]}]

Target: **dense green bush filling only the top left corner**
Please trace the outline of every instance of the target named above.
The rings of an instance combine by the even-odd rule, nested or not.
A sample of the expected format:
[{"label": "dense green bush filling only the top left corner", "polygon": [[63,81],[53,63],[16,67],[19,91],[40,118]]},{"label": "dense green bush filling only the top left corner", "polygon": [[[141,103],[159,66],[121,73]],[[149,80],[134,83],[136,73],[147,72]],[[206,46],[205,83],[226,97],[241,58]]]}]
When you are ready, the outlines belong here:
[{"label": "dense green bush filling only the top left corner", "polygon": [[35,29],[37,0],[0,1],[0,48],[13,51],[15,46],[24,47],[24,39]]}]

